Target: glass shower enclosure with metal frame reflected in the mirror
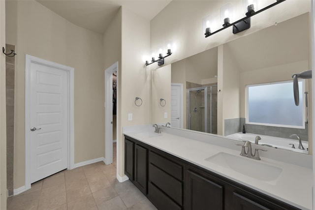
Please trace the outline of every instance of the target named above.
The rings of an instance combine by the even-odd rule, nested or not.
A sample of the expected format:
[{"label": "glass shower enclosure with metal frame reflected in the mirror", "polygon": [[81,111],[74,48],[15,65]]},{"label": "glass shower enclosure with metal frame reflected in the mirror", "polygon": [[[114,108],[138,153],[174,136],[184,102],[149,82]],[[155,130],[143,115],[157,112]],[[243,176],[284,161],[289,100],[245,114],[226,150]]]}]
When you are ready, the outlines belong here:
[{"label": "glass shower enclosure with metal frame reflected in the mirror", "polygon": [[207,86],[187,90],[187,127],[217,134],[218,87]]}]

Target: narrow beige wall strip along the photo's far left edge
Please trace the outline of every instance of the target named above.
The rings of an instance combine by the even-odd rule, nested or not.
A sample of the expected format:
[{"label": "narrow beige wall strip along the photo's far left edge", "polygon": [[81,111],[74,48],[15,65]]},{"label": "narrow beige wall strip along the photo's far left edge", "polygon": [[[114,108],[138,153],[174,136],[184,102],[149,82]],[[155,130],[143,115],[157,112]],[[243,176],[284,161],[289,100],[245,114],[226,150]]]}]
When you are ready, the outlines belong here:
[{"label": "narrow beige wall strip along the photo's far left edge", "polygon": [[[0,1],[0,46],[5,46],[5,1]],[[0,54],[0,209],[6,210],[5,55]]]}]

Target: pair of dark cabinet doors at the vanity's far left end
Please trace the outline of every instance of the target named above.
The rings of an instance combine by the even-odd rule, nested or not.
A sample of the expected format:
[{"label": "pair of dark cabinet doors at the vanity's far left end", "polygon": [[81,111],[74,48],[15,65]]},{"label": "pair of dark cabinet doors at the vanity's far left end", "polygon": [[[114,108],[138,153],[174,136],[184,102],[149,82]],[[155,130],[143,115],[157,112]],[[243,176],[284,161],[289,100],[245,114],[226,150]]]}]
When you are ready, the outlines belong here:
[{"label": "pair of dark cabinet doors at the vanity's far left end", "polygon": [[139,190],[147,195],[148,149],[125,138],[125,174]]}]

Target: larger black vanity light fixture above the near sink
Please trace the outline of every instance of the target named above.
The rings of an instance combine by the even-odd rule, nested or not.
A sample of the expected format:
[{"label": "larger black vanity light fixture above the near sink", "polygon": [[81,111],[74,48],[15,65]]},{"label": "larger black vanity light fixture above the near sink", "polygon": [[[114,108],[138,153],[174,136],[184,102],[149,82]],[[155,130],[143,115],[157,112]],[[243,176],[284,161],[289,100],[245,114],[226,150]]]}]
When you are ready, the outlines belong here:
[{"label": "larger black vanity light fixture above the near sink", "polygon": [[[277,4],[279,4],[279,3],[281,3],[281,2],[283,2],[285,0],[276,0],[276,2],[270,4],[270,5],[262,8],[262,9],[259,9],[257,11],[255,11],[256,5],[254,4],[254,2],[256,0],[244,0],[244,1],[248,3],[247,4],[247,12],[245,13],[246,17],[244,17],[244,18],[242,18],[242,19],[240,19],[238,21],[235,21],[233,23],[230,23],[230,18],[232,16],[231,17],[224,17],[223,25],[222,25],[223,28],[221,28],[219,30],[216,30],[214,32],[211,32],[210,28],[206,28],[205,37],[208,37],[208,36],[211,36],[211,35],[213,35],[215,33],[218,33],[221,30],[229,28],[230,26],[233,26],[233,33],[234,34],[239,33],[239,32],[241,32],[243,30],[247,30],[247,29],[251,28],[251,17],[252,16],[254,16],[254,15],[256,15],[256,14],[262,12],[262,11],[265,11],[266,9],[269,9],[269,8],[271,8],[271,7],[277,5]],[[222,9],[221,8],[221,14],[222,14],[222,10],[224,12],[227,11],[226,9]],[[228,14],[229,12],[226,12],[226,13]]]}]

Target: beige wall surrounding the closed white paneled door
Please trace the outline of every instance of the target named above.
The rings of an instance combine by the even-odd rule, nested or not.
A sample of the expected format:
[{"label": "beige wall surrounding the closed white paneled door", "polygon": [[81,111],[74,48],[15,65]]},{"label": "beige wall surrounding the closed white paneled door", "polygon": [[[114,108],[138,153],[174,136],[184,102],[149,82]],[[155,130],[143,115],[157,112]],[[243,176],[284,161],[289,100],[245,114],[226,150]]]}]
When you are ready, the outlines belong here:
[{"label": "beige wall surrounding the closed white paneled door", "polygon": [[[101,34],[73,25],[37,1],[7,1],[8,44],[16,45],[14,189],[25,184],[25,55],[74,67],[74,162],[104,156]],[[14,16],[16,14],[16,17]]]}]

